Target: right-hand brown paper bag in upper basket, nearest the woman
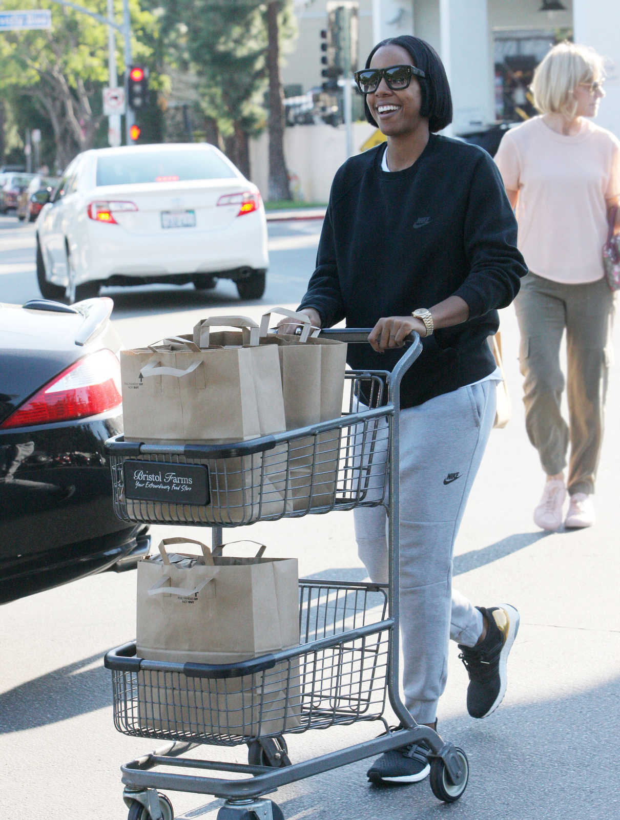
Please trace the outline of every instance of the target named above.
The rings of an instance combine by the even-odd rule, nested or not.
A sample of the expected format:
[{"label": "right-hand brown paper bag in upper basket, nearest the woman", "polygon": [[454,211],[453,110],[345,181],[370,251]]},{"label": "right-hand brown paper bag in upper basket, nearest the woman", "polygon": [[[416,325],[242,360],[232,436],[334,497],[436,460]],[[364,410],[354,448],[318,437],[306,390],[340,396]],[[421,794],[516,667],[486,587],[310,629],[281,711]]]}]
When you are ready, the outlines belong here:
[{"label": "right-hand brown paper bag in upper basket, nearest the woman", "polygon": [[[300,335],[267,335],[271,314],[282,314],[301,327]],[[305,313],[274,307],[261,319],[263,344],[275,344],[280,355],[287,430],[340,418],[347,345],[317,338]],[[288,495],[294,510],[334,502],[340,430],[294,438],[289,444]]]}]

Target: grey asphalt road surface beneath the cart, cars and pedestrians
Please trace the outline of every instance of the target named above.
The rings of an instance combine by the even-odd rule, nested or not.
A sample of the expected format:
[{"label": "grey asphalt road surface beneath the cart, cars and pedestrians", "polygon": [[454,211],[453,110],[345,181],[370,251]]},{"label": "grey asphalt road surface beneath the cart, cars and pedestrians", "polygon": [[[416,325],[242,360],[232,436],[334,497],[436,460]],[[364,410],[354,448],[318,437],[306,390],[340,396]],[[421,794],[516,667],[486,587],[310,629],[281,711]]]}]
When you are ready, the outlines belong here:
[{"label": "grey asphalt road surface beneath the cart, cars and pedestrians", "polygon": [[[271,269],[261,303],[243,304],[234,285],[212,294],[191,286],[109,289],[125,345],[186,332],[213,313],[258,317],[294,307],[312,271],[320,222],[270,225]],[[38,296],[32,226],[0,217],[0,299]],[[440,704],[440,733],[463,746],[471,778],[445,806],[427,782],[375,787],[367,763],[285,786],[274,799],[287,820],[600,820],[620,817],[620,561],[618,471],[620,389],[612,371],[608,429],[599,468],[599,522],[546,534],[531,521],[542,485],[527,442],[517,372],[517,329],[503,312],[505,369],[513,419],[494,430],[458,535],[455,585],[476,604],[508,601],[522,615],[504,704],[486,720],[467,715],[467,676],[452,646]],[[618,335],[615,339],[618,351]],[[153,537],[179,528],[153,527]],[[209,535],[183,529],[189,537]],[[303,575],[360,580],[351,514],[259,523],[229,540],[264,540],[272,555],[294,554]],[[135,575],[107,573],[0,609],[2,813],[10,820],[124,820],[119,766],[156,743],[122,736],[112,724],[103,654],[134,636]],[[309,758],[382,731],[363,724],[291,736],[289,753]],[[204,756],[244,760],[244,747]],[[169,793],[177,818],[215,820],[221,801]]]}]

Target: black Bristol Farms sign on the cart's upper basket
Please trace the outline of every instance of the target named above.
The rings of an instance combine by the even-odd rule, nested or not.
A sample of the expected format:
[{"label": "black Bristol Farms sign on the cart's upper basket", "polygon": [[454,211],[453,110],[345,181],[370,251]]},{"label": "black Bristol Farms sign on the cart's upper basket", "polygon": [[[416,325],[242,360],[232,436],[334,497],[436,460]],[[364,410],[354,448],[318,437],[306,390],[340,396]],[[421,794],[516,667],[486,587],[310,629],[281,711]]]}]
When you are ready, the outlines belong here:
[{"label": "black Bristol Farms sign on the cart's upper basket", "polygon": [[209,503],[209,471],[202,464],[125,461],[125,496],[171,504]]}]

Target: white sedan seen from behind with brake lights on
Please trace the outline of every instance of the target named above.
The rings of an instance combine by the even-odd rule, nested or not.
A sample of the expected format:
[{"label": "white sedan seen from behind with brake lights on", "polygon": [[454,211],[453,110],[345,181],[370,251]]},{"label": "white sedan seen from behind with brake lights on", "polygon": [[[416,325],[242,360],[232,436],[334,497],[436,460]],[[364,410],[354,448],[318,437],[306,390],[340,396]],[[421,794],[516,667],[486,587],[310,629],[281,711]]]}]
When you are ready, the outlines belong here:
[{"label": "white sedan seen from behind with brake lights on", "polygon": [[37,280],[70,303],[101,285],[166,283],[239,296],[265,291],[267,221],[256,185],[212,145],[155,144],[80,153],[36,223]]}]

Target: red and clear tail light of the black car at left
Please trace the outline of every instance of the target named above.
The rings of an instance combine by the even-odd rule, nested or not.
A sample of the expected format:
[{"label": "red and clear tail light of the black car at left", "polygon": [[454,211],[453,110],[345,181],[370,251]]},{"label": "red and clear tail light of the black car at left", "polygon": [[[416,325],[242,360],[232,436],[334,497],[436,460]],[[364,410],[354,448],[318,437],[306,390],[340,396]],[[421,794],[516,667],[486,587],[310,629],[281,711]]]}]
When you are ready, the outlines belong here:
[{"label": "red and clear tail light of the black car at left", "polygon": [[98,350],[71,367],[17,408],[0,428],[50,424],[96,416],[121,406],[121,367],[112,350]]}]

